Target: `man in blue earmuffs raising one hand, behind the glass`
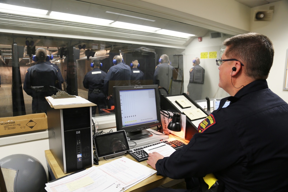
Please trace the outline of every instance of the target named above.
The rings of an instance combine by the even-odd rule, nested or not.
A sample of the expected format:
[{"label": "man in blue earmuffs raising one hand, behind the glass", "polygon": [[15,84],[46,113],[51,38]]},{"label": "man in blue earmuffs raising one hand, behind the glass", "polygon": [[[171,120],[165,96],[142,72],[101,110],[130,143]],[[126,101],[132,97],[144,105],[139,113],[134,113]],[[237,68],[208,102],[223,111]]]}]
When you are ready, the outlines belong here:
[{"label": "man in blue earmuffs raising one hand, behind the glass", "polygon": [[113,98],[111,99],[113,86],[128,86],[131,78],[130,66],[123,63],[121,53],[113,57],[113,64],[104,79],[104,92],[109,100],[109,107],[114,104]]}]

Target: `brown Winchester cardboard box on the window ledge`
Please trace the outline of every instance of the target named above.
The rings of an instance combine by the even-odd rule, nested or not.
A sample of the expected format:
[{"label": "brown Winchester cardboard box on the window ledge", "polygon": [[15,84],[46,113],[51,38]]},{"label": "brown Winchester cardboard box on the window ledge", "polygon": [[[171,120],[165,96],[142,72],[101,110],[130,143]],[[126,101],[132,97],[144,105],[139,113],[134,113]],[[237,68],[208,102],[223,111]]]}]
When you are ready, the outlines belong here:
[{"label": "brown Winchester cardboard box on the window ledge", "polygon": [[0,136],[45,129],[48,129],[45,113],[0,118]]}]

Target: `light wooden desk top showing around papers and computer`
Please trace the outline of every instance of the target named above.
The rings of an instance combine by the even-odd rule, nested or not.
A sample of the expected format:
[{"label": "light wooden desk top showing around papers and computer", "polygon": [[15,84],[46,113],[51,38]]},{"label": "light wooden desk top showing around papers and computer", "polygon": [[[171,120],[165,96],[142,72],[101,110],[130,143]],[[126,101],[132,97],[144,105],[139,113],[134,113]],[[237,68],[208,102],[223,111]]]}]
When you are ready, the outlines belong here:
[{"label": "light wooden desk top showing around papers and computer", "polygon": [[[183,142],[183,140],[181,140],[181,141]],[[187,142],[185,144],[187,144]],[[53,175],[55,176],[56,179],[58,179],[60,177],[63,177],[63,176],[66,176],[66,175],[69,175],[69,173],[68,174],[64,174],[64,172],[62,171],[62,169],[58,165],[56,159],[54,158],[54,156],[52,155],[50,150],[46,150],[45,151],[45,157],[46,157],[46,161],[47,161],[47,166],[49,166],[48,170],[51,169],[51,171],[53,172]],[[128,159],[132,159],[133,161],[138,162],[136,159],[134,159],[128,153],[126,153],[124,155],[124,157],[127,157]],[[113,161],[113,160],[106,161],[106,160],[103,160],[103,158],[102,158],[99,161],[99,165],[98,166],[103,165],[105,163],[109,163],[111,161]],[[148,165],[146,161],[142,161],[142,162],[140,162],[140,164],[151,168],[151,166]],[[96,166],[96,165],[94,165],[94,166]],[[135,191],[135,192],[136,191],[137,192],[143,191],[144,192],[144,191],[147,191],[147,190],[150,190],[150,189],[154,189],[155,187],[158,187],[160,185],[168,183],[169,181],[172,181],[172,180],[173,179],[170,179],[168,177],[164,177],[164,176],[160,176],[160,175],[154,174],[154,175],[148,177],[147,179],[143,180],[142,182],[138,183],[137,185],[134,185],[133,187],[127,189],[126,191]]]}]

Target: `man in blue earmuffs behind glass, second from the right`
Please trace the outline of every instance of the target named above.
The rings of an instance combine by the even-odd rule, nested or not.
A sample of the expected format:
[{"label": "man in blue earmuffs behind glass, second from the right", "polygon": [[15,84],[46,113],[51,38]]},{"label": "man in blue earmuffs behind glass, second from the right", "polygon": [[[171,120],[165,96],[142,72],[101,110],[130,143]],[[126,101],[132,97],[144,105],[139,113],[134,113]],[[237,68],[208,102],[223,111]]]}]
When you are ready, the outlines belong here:
[{"label": "man in blue earmuffs behind glass, second from the right", "polygon": [[165,88],[170,93],[175,68],[170,65],[168,55],[161,55],[154,72],[153,83],[159,88]]}]

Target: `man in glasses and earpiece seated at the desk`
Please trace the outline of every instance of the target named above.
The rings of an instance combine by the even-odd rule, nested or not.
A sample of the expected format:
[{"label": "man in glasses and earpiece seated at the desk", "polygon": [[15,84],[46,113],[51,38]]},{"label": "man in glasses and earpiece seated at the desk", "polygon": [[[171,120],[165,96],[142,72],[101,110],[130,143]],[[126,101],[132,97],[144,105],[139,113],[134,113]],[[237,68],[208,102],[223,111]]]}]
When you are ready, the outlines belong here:
[{"label": "man in glasses and earpiece seated at the desk", "polygon": [[[266,81],[272,42],[247,33],[223,45],[226,50],[216,60],[219,87],[231,96],[199,124],[188,145],[170,157],[149,153],[147,164],[173,179],[213,173],[224,183],[223,191],[287,191],[288,104]],[[230,104],[222,108],[226,100]]]}]

